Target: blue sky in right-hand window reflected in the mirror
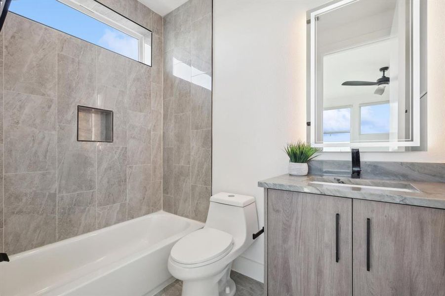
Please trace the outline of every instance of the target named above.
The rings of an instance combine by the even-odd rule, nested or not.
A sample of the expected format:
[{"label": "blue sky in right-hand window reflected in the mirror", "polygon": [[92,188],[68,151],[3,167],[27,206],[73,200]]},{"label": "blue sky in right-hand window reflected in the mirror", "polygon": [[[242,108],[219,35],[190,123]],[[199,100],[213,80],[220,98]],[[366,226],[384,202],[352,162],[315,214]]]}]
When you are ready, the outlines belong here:
[{"label": "blue sky in right-hand window reflected in the mirror", "polygon": [[389,133],[389,103],[362,106],[360,108],[360,133]]}]

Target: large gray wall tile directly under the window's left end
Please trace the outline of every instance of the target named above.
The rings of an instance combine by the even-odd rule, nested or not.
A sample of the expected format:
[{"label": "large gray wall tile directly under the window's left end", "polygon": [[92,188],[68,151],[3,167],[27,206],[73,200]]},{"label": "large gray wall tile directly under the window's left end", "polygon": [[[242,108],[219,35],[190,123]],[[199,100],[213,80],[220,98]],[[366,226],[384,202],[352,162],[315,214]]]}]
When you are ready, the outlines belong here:
[{"label": "large gray wall tile directly under the window's left end", "polygon": [[13,13],[4,32],[4,89],[55,98],[57,32]]}]

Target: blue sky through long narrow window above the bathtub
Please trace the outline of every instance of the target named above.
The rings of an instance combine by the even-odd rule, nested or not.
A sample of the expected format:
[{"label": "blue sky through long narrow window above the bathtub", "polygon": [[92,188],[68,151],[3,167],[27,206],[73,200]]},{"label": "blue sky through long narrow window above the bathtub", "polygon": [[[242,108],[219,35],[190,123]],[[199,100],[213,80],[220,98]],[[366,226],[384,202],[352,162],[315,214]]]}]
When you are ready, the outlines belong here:
[{"label": "blue sky through long narrow window above the bathtub", "polygon": [[138,39],[57,0],[13,0],[9,10],[133,60],[138,60]]}]

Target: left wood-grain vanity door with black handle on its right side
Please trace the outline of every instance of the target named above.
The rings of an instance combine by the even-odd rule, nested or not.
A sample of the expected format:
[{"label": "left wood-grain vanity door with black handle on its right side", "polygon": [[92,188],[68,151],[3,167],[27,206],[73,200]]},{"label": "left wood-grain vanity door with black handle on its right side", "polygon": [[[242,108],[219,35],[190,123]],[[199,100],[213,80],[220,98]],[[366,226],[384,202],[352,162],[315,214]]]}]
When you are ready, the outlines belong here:
[{"label": "left wood-grain vanity door with black handle on its right side", "polygon": [[267,215],[269,296],[352,295],[351,199],[268,189]]}]

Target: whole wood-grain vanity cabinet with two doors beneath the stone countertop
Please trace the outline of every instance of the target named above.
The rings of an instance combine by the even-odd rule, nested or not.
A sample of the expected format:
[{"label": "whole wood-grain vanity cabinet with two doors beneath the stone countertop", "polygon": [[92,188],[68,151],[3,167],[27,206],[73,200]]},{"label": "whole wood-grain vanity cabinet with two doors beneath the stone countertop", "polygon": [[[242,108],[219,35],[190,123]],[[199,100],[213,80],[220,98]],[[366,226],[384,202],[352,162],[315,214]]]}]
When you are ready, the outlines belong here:
[{"label": "whole wood-grain vanity cabinet with two doors beneath the stone countertop", "polygon": [[265,195],[266,295],[445,296],[445,210]]}]

